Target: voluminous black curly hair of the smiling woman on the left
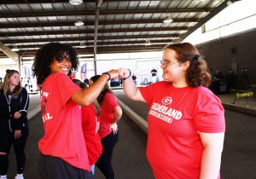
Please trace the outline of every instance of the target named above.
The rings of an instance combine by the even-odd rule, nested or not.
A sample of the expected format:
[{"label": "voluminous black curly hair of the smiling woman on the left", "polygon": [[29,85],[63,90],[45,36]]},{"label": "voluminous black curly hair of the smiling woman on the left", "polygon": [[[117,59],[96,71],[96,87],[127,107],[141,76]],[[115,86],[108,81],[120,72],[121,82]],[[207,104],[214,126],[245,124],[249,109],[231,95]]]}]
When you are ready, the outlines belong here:
[{"label": "voluminous black curly hair of the smiling woman on the left", "polygon": [[74,70],[78,69],[79,59],[72,46],[64,43],[46,43],[38,49],[32,65],[32,76],[37,78],[38,84],[43,84],[44,79],[50,75],[50,65],[54,61],[61,62],[64,58],[71,61]]}]

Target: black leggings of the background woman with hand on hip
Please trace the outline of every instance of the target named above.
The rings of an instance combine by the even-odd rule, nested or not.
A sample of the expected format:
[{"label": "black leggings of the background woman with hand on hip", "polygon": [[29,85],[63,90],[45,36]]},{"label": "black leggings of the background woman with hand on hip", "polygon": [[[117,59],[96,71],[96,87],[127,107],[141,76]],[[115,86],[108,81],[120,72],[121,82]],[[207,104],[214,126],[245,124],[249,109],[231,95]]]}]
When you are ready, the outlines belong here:
[{"label": "black leggings of the background woman with hand on hip", "polygon": [[113,147],[119,139],[119,134],[113,135],[111,132],[108,136],[102,138],[102,155],[97,160],[96,166],[102,171],[106,179],[114,179],[114,173],[112,168],[112,155]]}]

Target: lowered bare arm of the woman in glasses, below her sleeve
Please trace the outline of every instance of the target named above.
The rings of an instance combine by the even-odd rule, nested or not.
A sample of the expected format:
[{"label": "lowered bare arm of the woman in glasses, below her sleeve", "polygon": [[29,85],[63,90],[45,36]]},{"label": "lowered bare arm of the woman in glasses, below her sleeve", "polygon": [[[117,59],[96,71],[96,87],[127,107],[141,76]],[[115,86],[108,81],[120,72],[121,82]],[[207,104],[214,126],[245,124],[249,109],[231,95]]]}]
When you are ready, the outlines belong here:
[{"label": "lowered bare arm of the woman in glasses, below her sleeve", "polygon": [[224,132],[199,133],[204,147],[201,159],[200,179],[217,179],[224,144]]}]

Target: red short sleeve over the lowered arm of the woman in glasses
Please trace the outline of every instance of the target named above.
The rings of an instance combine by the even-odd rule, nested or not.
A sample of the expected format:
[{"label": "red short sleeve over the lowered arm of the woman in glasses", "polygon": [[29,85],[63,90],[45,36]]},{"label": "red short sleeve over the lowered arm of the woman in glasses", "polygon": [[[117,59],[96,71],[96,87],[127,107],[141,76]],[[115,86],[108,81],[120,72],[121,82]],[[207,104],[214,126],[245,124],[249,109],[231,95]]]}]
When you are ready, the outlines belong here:
[{"label": "red short sleeve over the lowered arm of the woman in glasses", "polygon": [[213,94],[207,94],[199,101],[195,108],[195,130],[205,133],[219,133],[225,131],[224,107]]}]

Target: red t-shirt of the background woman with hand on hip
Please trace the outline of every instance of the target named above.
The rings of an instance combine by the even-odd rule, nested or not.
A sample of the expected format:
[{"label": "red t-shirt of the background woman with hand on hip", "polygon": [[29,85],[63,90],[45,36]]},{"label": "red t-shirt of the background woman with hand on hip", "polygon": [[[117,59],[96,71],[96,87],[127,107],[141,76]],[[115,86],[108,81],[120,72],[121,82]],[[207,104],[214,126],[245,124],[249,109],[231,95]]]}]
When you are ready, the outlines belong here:
[{"label": "red t-shirt of the background woman with hand on hip", "polygon": [[119,106],[112,93],[107,93],[104,96],[102,106],[101,106],[101,123],[100,123],[100,136],[103,138],[108,136],[112,130],[110,129],[110,124],[113,120],[113,108]]}]

